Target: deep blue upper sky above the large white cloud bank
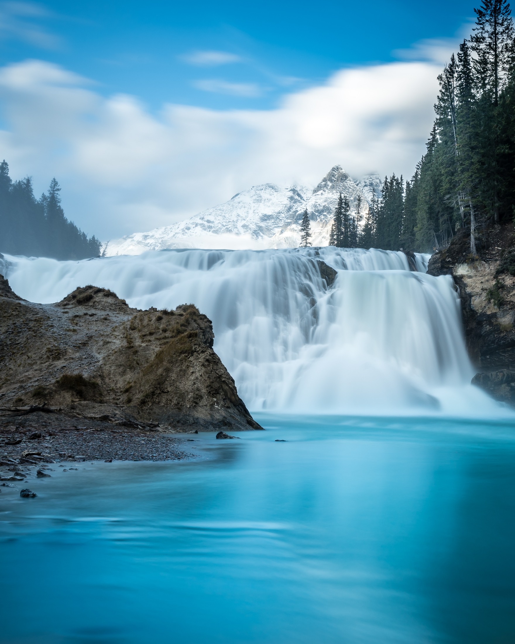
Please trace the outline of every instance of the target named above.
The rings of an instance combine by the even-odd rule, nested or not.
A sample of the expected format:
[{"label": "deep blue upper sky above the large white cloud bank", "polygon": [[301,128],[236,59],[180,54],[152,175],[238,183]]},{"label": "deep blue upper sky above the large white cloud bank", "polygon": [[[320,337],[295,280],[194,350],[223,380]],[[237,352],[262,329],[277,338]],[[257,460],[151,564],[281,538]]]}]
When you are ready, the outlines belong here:
[{"label": "deep blue upper sky above the large white cloud bank", "polygon": [[[3,3],[6,62],[44,58],[105,95],[215,109],[269,108],[346,66],[389,62],[453,38],[473,8],[453,3],[53,1]],[[218,59],[198,52],[219,52]],[[225,53],[225,58],[222,53]]]}]

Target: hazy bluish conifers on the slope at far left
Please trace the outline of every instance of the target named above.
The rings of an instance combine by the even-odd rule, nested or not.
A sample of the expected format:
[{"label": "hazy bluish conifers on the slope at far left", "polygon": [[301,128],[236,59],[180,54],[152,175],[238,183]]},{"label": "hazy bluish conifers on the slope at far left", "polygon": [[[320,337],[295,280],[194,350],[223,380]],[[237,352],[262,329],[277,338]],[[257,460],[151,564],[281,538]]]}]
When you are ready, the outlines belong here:
[{"label": "hazy bluish conifers on the slope at far left", "polygon": [[88,239],[64,216],[61,188],[55,178],[36,199],[32,179],[13,181],[5,160],[0,164],[0,251],[12,255],[81,260],[95,257],[100,242]]}]

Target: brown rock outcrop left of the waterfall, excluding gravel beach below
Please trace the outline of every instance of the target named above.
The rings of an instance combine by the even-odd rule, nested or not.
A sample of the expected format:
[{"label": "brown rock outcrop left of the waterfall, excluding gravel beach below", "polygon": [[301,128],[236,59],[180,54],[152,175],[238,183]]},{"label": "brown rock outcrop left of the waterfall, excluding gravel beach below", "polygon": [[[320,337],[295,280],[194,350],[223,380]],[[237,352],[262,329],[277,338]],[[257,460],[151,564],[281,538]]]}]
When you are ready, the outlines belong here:
[{"label": "brown rock outcrop left of the waterfall, excluding gravel beach below", "polygon": [[193,305],[129,308],[108,289],[21,300],[0,281],[0,404],[155,421],[184,431],[261,429]]}]

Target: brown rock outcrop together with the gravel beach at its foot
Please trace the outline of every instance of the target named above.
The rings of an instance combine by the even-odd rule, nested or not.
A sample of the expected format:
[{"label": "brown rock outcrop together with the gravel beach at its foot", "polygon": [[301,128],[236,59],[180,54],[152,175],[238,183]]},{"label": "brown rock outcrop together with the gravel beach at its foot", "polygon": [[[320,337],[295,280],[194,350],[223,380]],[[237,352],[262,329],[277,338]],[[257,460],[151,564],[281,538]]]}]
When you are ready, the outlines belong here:
[{"label": "brown rock outcrop together with the gravel beach at its foot", "polygon": [[193,305],[137,310],[91,285],[39,305],[0,276],[0,486],[56,464],[194,458],[199,431],[263,429],[213,339]]}]

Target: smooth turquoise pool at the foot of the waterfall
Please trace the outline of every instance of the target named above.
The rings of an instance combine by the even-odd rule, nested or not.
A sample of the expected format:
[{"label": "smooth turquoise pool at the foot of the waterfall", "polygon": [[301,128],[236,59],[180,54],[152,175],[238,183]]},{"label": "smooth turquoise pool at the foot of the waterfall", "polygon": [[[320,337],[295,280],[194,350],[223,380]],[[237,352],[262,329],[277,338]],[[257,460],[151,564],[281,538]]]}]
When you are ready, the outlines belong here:
[{"label": "smooth turquoise pool at the foot of the waterfall", "polygon": [[511,426],[258,420],[1,488],[0,642],[515,641]]}]

